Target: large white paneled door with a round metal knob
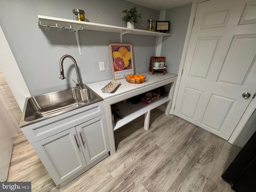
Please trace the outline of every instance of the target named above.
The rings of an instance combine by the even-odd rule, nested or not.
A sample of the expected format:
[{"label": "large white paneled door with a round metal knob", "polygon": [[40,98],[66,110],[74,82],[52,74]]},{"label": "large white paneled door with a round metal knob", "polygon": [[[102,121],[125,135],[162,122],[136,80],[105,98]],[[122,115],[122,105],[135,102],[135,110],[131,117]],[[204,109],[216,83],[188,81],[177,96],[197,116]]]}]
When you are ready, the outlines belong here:
[{"label": "large white paneled door with a round metal knob", "polygon": [[227,140],[255,91],[256,1],[199,3],[174,114]]}]

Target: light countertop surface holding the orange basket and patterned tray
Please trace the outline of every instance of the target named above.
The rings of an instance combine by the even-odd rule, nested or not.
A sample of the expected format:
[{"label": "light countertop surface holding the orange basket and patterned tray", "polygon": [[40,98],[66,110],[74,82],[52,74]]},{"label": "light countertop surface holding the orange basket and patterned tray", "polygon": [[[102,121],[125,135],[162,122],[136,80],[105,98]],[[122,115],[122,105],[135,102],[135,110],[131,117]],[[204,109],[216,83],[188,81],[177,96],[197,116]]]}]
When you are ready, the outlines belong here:
[{"label": "light countertop surface holding the orange basket and patterned tray", "polygon": [[101,91],[101,89],[108,84],[110,81],[113,81],[113,79],[110,80],[104,80],[104,81],[100,81],[100,82],[94,82],[94,83],[90,83],[90,84],[86,84],[89,88],[91,88],[96,94],[98,94],[98,96],[100,96],[103,100],[107,100],[109,98],[127,93],[127,92],[131,92],[134,90],[138,90],[140,88],[146,87],[146,86],[150,86],[152,84],[156,84],[158,82],[162,82],[164,80],[168,80],[171,78],[177,77],[177,74],[172,74],[172,73],[165,73],[165,75],[163,75],[162,73],[155,73],[152,75],[152,72],[147,72],[147,78],[145,80],[145,82],[140,83],[140,84],[132,84],[132,83],[128,83],[126,82],[126,79],[119,79],[116,81],[120,81],[121,85],[118,87],[118,89],[113,92],[113,93],[103,93]]}]

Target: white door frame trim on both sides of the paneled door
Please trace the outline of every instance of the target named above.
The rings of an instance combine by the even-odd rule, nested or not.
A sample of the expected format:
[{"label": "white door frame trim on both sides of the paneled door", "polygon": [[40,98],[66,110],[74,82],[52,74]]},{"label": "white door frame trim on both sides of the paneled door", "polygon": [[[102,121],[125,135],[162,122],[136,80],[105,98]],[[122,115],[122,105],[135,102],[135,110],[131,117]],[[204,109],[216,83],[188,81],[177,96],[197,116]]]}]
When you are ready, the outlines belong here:
[{"label": "white door frame trim on both sides of the paneled door", "polygon": [[[186,55],[187,55],[187,51],[188,51],[188,45],[189,45],[189,42],[190,42],[190,37],[191,37],[191,33],[192,33],[192,28],[193,28],[192,24],[193,24],[193,21],[194,21],[194,17],[196,15],[196,9],[197,9],[198,3],[201,3],[201,2],[204,2],[204,1],[208,1],[208,0],[197,0],[196,2],[192,3],[192,7],[191,7],[191,11],[190,11],[190,18],[189,18],[189,21],[188,21],[188,28],[187,28],[186,38],[185,38],[184,47],[183,47],[183,51],[182,51],[182,56],[181,56],[181,60],[180,60],[178,78],[177,78],[177,81],[176,81],[176,86],[175,86],[175,90],[174,90],[174,96],[173,96],[173,100],[172,100],[172,107],[171,107],[171,110],[170,110],[170,114],[174,113],[174,107],[175,107],[175,103],[176,103],[176,100],[177,100],[178,91],[179,91],[179,88],[180,88],[181,74],[182,74],[182,70],[183,70],[184,64],[185,64],[185,59],[186,59]],[[230,144],[234,143],[234,141],[236,140],[236,138],[238,137],[238,135],[240,134],[240,132],[244,128],[246,122],[249,120],[250,116],[252,115],[252,113],[254,112],[255,109],[256,109],[256,99],[253,99],[250,102],[250,104],[247,106],[246,110],[244,111],[244,114],[240,118],[238,124],[236,125],[235,129],[233,130],[231,136],[229,137],[228,142]]]}]

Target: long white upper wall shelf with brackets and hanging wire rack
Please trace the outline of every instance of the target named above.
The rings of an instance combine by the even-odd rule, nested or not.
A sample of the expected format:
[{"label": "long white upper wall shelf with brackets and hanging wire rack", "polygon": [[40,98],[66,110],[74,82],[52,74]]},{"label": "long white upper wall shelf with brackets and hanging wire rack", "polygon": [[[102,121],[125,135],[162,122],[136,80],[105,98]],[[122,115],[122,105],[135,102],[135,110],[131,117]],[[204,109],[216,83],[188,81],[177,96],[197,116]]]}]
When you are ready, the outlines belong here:
[{"label": "long white upper wall shelf with brackets and hanging wire rack", "polygon": [[[153,37],[164,37],[171,36],[170,33],[160,33],[153,31],[146,31],[140,29],[130,29],[126,27],[84,22],[84,21],[76,21],[71,19],[63,19],[49,16],[38,15],[38,25],[44,26],[44,29],[50,29],[51,27],[55,27],[58,31],[62,31],[63,29],[69,29],[70,32],[75,32],[76,40],[78,43],[78,49],[80,52],[80,44],[78,38],[78,30],[92,30],[92,31],[103,31],[103,32],[112,32],[120,34],[120,42],[122,43],[122,36],[124,34],[131,35],[143,35],[143,36],[153,36]],[[156,41],[157,41],[156,39]],[[156,42],[157,43],[157,42]],[[81,52],[80,52],[81,55]]]}]

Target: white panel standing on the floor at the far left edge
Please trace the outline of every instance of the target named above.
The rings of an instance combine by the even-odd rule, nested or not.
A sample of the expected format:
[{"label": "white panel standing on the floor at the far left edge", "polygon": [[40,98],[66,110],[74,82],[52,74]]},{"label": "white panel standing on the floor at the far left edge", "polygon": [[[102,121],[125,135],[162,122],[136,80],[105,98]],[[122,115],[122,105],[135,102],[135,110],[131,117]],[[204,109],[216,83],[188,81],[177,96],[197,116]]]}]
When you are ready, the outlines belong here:
[{"label": "white panel standing on the floor at the far left edge", "polygon": [[6,181],[12,156],[13,142],[0,120],[0,182]]}]

